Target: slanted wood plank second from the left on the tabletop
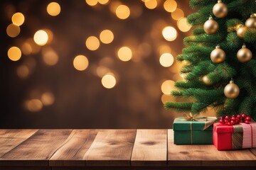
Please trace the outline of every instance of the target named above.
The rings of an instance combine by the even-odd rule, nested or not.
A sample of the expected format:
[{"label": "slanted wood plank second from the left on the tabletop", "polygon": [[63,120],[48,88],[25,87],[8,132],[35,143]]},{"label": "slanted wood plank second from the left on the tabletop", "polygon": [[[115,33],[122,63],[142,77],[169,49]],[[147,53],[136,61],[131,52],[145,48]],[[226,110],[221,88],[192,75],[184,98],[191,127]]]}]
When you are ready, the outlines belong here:
[{"label": "slanted wood plank second from the left on the tabletop", "polygon": [[0,158],[0,166],[48,166],[48,160],[72,130],[38,130]]}]

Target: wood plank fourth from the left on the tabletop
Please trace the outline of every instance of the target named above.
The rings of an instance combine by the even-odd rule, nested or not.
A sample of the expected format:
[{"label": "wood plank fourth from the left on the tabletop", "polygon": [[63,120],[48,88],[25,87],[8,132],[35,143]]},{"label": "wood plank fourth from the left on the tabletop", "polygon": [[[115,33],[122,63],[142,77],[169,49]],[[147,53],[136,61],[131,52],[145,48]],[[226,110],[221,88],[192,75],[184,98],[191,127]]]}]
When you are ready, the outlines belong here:
[{"label": "wood plank fourth from the left on the tabletop", "polygon": [[100,130],[85,154],[87,166],[130,166],[136,130]]}]

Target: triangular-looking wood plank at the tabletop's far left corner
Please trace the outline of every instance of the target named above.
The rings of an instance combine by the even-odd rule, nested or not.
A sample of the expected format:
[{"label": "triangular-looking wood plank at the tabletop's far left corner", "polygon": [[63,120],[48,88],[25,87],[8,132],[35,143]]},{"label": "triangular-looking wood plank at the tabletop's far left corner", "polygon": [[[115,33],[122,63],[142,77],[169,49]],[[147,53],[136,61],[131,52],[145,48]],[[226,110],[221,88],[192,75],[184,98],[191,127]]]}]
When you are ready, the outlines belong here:
[{"label": "triangular-looking wood plank at the tabletop's far left corner", "polygon": [[17,147],[38,130],[0,130],[0,157]]}]

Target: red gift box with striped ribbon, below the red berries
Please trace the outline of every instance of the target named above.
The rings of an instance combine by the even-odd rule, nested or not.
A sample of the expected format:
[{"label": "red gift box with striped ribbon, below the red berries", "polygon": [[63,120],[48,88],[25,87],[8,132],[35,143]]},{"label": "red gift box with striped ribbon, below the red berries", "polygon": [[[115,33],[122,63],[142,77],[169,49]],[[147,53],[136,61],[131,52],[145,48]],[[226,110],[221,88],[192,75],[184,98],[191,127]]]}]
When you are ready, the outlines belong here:
[{"label": "red gift box with striped ribbon, below the red berries", "polygon": [[218,150],[256,147],[256,123],[237,125],[213,124],[213,145]]}]

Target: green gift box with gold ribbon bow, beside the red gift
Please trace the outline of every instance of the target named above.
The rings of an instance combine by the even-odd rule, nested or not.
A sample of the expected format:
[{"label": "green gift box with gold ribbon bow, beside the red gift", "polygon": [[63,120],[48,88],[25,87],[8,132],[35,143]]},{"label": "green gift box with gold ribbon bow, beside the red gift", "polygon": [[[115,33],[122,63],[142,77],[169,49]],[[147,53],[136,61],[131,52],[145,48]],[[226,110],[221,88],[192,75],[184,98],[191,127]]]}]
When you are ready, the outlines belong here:
[{"label": "green gift box with gold ribbon bow, beside the red gift", "polygon": [[178,117],[174,120],[174,144],[213,144],[213,123],[215,117],[199,117],[196,120],[185,120]]}]

